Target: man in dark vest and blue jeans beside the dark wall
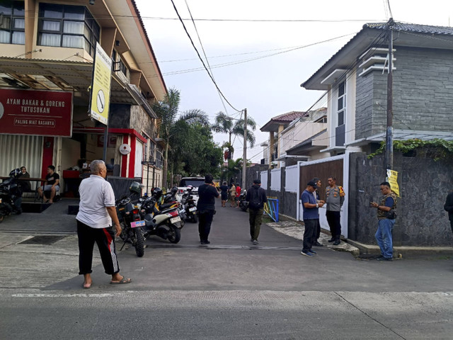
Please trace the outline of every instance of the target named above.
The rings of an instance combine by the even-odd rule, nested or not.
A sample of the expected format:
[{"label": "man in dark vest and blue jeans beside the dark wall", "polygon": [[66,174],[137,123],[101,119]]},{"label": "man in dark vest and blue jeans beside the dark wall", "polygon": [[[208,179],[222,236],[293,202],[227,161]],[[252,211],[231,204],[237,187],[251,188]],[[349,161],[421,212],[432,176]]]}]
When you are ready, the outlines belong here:
[{"label": "man in dark vest and blue jeans beside the dark wall", "polygon": [[376,202],[369,203],[372,208],[377,208],[377,219],[379,220],[377,232],[374,235],[381,249],[381,256],[377,258],[377,261],[393,261],[391,232],[395,225],[396,195],[391,191],[389,182],[381,183],[381,193],[384,196],[382,196],[379,204]]}]

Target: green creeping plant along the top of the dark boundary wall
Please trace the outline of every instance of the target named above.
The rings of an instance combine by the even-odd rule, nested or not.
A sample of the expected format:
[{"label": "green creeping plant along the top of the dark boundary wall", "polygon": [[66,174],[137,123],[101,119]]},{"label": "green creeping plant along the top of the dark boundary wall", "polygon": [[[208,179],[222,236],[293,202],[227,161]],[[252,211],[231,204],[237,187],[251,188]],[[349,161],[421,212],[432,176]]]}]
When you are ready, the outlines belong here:
[{"label": "green creeping plant along the top of the dark boundary wall", "polygon": [[[394,151],[407,154],[413,152],[415,149],[425,149],[432,159],[438,161],[439,159],[453,156],[453,141],[441,140],[439,138],[435,138],[434,140],[419,140],[417,138],[413,140],[394,140]],[[381,147],[376,152],[369,154],[368,158],[372,159],[374,156],[383,154],[384,152],[385,141],[382,141]]]}]

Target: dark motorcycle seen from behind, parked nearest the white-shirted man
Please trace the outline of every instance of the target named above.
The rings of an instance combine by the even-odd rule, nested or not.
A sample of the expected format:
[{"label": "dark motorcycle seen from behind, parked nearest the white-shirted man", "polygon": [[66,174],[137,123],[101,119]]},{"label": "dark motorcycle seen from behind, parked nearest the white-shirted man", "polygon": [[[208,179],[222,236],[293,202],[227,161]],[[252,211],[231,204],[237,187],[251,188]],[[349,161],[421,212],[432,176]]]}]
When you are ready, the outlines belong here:
[{"label": "dark motorcycle seen from behind, parked nearest the white-shirted man", "polygon": [[137,182],[133,182],[129,190],[131,194],[129,196],[123,196],[115,203],[117,208],[118,219],[121,225],[120,237],[124,241],[122,248],[126,243],[132,244],[135,248],[135,253],[138,257],[144,255],[144,230],[145,222],[142,220],[140,215],[139,206],[132,204],[131,198],[134,194],[140,194],[142,192],[143,185]]}]

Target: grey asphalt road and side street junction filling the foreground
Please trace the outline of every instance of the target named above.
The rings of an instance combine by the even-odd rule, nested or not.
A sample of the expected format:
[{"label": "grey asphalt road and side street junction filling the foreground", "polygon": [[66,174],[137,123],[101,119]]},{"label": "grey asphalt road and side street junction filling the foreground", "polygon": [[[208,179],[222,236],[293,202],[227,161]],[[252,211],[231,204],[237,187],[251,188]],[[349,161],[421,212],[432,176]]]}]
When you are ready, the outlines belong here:
[{"label": "grey asphalt road and side street junction filling the foreground", "polygon": [[74,217],[55,214],[45,229],[43,214],[20,217],[66,233],[51,245],[18,244],[33,235],[18,216],[0,225],[1,339],[452,339],[451,259],[307,258],[267,226],[253,246],[248,214],[218,205],[209,246],[188,223],[179,244],[119,252],[128,285],[109,285],[96,257],[83,290]]}]

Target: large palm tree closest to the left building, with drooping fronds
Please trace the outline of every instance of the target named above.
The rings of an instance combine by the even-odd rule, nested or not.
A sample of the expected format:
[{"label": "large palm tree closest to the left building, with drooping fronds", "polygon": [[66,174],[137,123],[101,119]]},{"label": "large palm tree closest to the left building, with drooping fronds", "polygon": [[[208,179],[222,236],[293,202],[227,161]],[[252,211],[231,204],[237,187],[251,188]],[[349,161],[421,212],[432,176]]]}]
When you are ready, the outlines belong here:
[{"label": "large palm tree closest to the left building, with drooping fronds", "polygon": [[160,137],[165,141],[164,150],[164,166],[162,169],[162,183],[167,185],[167,172],[168,172],[168,150],[170,147],[170,140],[175,135],[180,127],[181,120],[188,124],[200,123],[201,125],[209,125],[207,115],[200,110],[186,111],[178,117],[178,108],[180,104],[180,92],[176,89],[170,89],[164,101],[155,101],[153,110],[159,118],[158,129]]}]

